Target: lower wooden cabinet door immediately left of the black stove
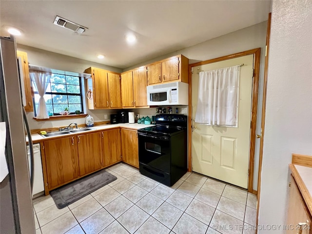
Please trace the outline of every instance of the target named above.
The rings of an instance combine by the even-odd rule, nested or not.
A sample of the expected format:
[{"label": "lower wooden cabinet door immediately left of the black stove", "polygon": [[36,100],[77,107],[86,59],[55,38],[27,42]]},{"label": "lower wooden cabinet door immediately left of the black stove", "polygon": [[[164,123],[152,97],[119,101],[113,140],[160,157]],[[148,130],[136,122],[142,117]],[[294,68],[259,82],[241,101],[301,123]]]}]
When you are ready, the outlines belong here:
[{"label": "lower wooden cabinet door immediately left of the black stove", "polygon": [[122,161],[138,168],[137,130],[121,129]]}]

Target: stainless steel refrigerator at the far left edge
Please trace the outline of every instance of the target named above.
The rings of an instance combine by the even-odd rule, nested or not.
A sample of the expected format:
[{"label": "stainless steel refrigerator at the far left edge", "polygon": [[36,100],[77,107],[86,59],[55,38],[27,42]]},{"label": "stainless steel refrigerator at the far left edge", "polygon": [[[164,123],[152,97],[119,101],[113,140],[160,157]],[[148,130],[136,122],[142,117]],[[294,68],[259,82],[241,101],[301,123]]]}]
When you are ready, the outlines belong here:
[{"label": "stainless steel refrigerator at the far left edge", "polygon": [[[0,137],[6,137],[5,158],[9,170],[0,183],[0,234],[35,234],[33,173],[30,173],[33,164],[28,164],[25,129],[28,135],[30,132],[21,101],[13,36],[0,37],[0,61],[0,122],[6,125],[6,136]],[[31,146],[31,138],[29,141]]]}]

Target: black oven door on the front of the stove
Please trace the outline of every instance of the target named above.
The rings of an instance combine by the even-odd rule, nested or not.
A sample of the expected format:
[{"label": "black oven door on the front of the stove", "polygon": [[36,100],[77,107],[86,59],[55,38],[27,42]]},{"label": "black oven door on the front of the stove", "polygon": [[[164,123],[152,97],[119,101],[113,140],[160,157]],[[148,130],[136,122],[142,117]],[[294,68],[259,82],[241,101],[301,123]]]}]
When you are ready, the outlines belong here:
[{"label": "black oven door on the front of the stove", "polygon": [[170,173],[170,137],[139,133],[138,160],[147,166]]}]

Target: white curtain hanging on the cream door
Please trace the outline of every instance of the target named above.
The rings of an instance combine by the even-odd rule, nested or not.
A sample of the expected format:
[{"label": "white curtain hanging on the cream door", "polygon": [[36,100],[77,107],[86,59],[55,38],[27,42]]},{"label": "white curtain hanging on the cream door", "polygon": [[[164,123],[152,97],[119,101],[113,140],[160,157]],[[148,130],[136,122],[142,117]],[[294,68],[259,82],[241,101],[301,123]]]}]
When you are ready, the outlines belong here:
[{"label": "white curtain hanging on the cream door", "polygon": [[239,65],[199,73],[195,122],[236,125],[239,75]]}]

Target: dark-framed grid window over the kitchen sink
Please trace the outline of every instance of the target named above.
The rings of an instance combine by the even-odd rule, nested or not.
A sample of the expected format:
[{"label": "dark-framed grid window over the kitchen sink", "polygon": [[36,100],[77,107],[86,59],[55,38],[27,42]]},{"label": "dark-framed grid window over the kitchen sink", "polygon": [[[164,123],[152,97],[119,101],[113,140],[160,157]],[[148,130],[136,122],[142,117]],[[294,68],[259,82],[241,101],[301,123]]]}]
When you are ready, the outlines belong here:
[{"label": "dark-framed grid window over the kitchen sink", "polygon": [[[34,105],[35,116],[37,116],[37,108],[39,103],[39,94],[34,87]],[[53,73],[48,84],[44,100],[49,115],[61,115],[60,113],[66,108],[69,114],[83,114],[83,99],[82,99],[82,84],[81,78],[77,76],[69,76]]]}]

